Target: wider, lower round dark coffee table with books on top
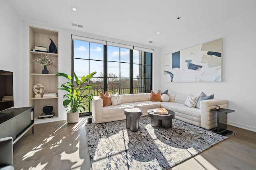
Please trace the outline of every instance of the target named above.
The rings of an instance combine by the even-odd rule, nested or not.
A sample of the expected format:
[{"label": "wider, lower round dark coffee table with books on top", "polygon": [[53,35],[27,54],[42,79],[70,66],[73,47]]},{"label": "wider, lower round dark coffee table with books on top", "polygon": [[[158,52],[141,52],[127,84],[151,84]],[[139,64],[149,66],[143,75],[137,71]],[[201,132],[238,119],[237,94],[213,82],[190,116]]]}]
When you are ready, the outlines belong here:
[{"label": "wider, lower round dark coffee table with books on top", "polygon": [[[167,109],[166,109],[167,110]],[[174,111],[167,110],[168,115],[155,114],[154,109],[148,110],[148,117],[151,118],[152,127],[172,128],[172,119],[175,117]]]}]

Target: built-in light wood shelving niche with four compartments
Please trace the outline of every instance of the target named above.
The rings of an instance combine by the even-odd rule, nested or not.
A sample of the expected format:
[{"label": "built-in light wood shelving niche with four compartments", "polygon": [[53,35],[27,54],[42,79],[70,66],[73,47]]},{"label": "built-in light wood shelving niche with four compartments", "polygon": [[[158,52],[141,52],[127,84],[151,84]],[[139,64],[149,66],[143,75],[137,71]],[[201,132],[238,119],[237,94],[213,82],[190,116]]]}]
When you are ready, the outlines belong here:
[{"label": "built-in light wood shelving niche with four compartments", "polygon": [[[32,51],[35,46],[44,46],[48,49],[51,43],[50,39],[55,43],[58,50],[58,31],[30,27],[29,103],[30,106],[34,107],[35,121],[58,118],[58,97],[38,98],[35,97],[36,94],[33,91],[34,85],[41,83],[45,87],[44,93],[58,93],[58,77],[55,76],[58,72],[58,53]],[[49,74],[42,74],[44,66],[34,62],[41,55],[49,55],[48,57],[55,61],[54,65],[57,67],[47,66]],[[41,95],[43,96],[44,93]],[[52,112],[55,113],[55,116],[53,118],[38,119],[38,116],[43,113],[43,107],[48,105],[52,105]]]}]

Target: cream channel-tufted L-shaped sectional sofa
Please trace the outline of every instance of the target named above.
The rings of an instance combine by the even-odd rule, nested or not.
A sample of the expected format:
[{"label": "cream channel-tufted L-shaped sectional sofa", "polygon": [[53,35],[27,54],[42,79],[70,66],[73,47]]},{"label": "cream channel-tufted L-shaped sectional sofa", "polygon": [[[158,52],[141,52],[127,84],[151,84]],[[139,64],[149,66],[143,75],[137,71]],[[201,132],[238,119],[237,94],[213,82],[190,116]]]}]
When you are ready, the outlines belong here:
[{"label": "cream channel-tufted L-shaped sectional sofa", "polygon": [[92,101],[92,117],[95,123],[104,123],[126,119],[124,109],[128,107],[138,107],[143,109],[143,115],[147,116],[149,109],[163,107],[175,112],[175,119],[196,125],[198,127],[212,129],[217,127],[217,115],[210,109],[219,105],[221,108],[228,107],[227,100],[210,99],[200,101],[200,109],[190,108],[184,105],[188,95],[168,93],[168,102],[150,101],[150,93],[120,95],[122,104],[103,107],[103,100],[99,96],[94,96]]}]

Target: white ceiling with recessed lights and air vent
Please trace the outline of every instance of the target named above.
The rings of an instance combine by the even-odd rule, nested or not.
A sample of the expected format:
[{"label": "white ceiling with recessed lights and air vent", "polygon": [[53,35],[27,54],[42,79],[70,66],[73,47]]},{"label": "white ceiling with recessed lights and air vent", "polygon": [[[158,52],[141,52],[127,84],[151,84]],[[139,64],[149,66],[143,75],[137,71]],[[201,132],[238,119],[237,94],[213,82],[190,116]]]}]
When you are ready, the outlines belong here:
[{"label": "white ceiling with recessed lights and air vent", "polygon": [[[255,0],[7,0],[7,3],[22,20],[156,47],[164,47],[172,40],[221,24],[256,7]],[[71,22],[84,27],[71,26]]]}]

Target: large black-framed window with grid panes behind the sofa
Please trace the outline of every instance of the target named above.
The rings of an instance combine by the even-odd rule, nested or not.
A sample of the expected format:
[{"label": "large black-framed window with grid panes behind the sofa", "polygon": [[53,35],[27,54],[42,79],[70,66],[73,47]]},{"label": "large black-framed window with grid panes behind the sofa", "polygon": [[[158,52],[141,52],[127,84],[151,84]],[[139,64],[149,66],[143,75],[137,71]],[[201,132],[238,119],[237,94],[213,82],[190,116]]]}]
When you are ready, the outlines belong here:
[{"label": "large black-framed window with grid panes behind the sofa", "polygon": [[106,91],[113,94],[150,93],[152,52],[116,44],[72,36],[72,73],[82,77],[97,71],[89,82],[98,85],[89,91],[93,95]]}]

